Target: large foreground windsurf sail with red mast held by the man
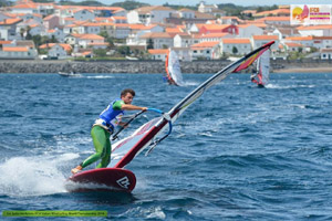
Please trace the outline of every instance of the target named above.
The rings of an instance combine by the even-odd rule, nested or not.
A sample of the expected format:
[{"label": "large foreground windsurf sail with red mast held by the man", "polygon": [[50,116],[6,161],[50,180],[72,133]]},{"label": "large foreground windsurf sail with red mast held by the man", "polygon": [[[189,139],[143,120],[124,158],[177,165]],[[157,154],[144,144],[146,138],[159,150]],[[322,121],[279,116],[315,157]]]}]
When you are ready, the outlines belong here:
[{"label": "large foreground windsurf sail with red mast held by the man", "polygon": [[[156,117],[141,126],[133,135],[120,140],[113,145],[111,166],[123,168],[129,164],[134,157],[148,147],[153,140],[158,137],[169,123],[174,123],[204,92],[209,87],[225,80],[229,74],[247,69],[255,62],[266,50],[268,50],[274,41],[264,44],[263,46],[252,51],[242,59],[229,64],[206,82],[200,84],[196,90],[188,94],[183,101],[176,104],[164,116]],[[172,125],[172,124],[170,124]]]}]

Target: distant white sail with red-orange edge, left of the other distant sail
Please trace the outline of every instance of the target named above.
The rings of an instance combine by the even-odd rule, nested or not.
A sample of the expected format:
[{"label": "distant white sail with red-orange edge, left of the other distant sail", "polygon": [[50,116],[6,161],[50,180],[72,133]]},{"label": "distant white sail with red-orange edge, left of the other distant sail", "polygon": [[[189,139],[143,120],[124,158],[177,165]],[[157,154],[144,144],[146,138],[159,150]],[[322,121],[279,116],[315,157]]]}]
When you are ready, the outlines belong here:
[{"label": "distant white sail with red-orange edge, left of the other distant sail", "polygon": [[175,51],[169,50],[165,62],[167,81],[169,84],[177,86],[184,85],[183,74],[178,56]]}]

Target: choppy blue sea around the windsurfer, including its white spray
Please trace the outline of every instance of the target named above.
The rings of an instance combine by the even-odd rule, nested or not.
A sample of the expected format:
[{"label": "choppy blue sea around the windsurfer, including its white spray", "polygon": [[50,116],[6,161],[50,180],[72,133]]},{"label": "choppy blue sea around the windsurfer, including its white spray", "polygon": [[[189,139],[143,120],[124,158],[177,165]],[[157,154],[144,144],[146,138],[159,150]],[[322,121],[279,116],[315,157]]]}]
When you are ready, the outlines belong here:
[{"label": "choppy blue sea around the windsurfer, including its white spray", "polygon": [[332,220],[332,73],[271,74],[266,88],[232,74],[126,166],[132,193],[66,191],[71,168],[94,152],[92,123],[123,88],[167,112],[210,76],[184,74],[177,87],[162,74],[1,74],[0,210],[107,217],[0,220]]}]

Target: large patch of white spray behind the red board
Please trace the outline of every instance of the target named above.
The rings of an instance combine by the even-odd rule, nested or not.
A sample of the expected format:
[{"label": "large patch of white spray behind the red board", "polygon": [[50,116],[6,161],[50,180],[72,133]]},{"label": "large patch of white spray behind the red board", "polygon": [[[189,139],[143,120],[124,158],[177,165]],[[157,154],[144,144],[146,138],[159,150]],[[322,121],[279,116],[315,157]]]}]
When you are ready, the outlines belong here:
[{"label": "large patch of white spray behind the red board", "polygon": [[25,197],[65,192],[66,177],[58,167],[77,157],[77,154],[64,154],[10,158],[0,165],[0,194]]}]

